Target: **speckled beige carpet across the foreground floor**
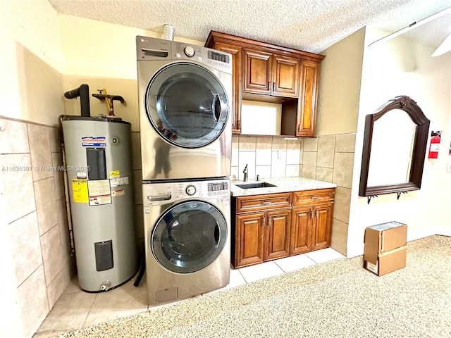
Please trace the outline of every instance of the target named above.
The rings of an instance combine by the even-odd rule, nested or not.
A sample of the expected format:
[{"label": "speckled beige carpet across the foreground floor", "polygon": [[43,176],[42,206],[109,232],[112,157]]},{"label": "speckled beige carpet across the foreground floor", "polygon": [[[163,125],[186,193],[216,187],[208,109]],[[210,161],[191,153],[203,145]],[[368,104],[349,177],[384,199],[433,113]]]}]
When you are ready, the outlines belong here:
[{"label": "speckled beige carpet across the foreground floor", "polygon": [[451,237],[382,277],[342,258],[60,337],[451,337]]}]

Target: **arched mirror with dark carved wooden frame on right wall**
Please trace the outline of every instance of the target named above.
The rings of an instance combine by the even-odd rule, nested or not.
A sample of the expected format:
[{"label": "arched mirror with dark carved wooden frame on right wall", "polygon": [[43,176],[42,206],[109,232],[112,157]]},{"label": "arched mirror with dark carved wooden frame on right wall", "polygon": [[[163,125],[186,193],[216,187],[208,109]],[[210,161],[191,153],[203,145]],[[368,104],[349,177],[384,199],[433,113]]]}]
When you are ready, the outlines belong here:
[{"label": "arched mirror with dark carved wooden frame on right wall", "polygon": [[419,190],[430,121],[409,96],[366,115],[359,196]]}]

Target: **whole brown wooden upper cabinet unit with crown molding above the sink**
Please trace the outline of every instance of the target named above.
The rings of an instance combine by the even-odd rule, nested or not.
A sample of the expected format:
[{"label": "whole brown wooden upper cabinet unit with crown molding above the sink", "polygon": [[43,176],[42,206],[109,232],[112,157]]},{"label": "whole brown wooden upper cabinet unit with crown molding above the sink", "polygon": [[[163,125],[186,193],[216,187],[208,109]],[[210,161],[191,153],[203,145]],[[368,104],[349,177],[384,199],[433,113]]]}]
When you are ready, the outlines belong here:
[{"label": "whole brown wooden upper cabinet unit with crown molding above the sink", "polygon": [[280,104],[280,135],[314,136],[324,56],[215,31],[205,46],[232,54],[234,134],[241,133],[244,99]]}]

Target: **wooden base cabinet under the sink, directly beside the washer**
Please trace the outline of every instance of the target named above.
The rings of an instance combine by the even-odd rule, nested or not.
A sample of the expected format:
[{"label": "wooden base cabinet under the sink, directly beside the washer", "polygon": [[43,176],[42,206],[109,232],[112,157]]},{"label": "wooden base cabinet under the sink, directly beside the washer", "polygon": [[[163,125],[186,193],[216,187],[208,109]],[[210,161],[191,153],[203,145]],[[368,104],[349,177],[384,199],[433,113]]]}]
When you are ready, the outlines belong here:
[{"label": "wooden base cabinet under the sink, directly beside the washer", "polygon": [[290,254],[291,199],[291,193],[235,199],[231,255],[234,268]]}]

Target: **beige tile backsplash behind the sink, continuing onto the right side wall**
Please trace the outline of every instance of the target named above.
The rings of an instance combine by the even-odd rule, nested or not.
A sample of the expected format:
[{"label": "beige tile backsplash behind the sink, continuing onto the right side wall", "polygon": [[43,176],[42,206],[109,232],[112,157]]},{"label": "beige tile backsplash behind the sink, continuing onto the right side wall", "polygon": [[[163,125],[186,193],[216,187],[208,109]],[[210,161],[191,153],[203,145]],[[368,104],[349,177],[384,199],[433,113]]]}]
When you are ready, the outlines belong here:
[{"label": "beige tile backsplash behind the sink, continuing onto the right side wall", "polygon": [[233,135],[231,179],[242,180],[247,165],[249,180],[300,176],[337,184],[330,246],[346,255],[354,149],[355,134],[299,139]]}]

